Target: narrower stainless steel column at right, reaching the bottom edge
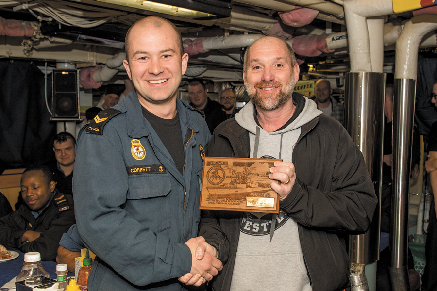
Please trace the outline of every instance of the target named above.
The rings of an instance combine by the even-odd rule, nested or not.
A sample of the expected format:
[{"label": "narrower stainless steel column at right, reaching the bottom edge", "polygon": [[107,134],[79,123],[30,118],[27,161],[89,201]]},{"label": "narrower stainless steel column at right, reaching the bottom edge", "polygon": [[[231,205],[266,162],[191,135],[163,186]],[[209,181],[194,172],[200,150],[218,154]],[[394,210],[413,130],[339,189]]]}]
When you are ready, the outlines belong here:
[{"label": "narrower stainless steel column at right, reaching the bottom edge", "polygon": [[393,184],[391,196],[390,279],[393,290],[410,290],[407,269],[408,199],[416,80],[393,85]]}]

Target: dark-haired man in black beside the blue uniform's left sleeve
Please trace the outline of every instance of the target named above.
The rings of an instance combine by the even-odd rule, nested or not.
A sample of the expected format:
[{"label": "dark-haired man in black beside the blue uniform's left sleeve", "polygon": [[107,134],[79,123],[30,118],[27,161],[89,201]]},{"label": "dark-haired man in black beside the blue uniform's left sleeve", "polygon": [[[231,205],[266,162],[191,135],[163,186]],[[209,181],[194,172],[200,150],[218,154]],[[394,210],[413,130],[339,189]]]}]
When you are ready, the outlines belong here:
[{"label": "dark-haired man in black beside the blue uniform's left sleeve", "polygon": [[56,189],[61,193],[73,195],[73,169],[76,160],[74,146],[76,139],[68,132],[56,134],[53,141],[53,151],[56,161],[51,161],[47,165],[54,174]]}]

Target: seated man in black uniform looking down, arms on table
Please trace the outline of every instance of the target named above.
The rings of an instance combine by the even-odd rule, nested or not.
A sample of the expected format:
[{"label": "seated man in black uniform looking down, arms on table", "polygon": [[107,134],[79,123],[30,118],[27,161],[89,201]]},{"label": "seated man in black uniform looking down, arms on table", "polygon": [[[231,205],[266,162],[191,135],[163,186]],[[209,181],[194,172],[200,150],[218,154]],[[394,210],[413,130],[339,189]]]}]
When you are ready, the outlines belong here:
[{"label": "seated man in black uniform looking down, arms on table", "polygon": [[64,232],[72,226],[73,197],[55,189],[53,173],[44,165],[30,166],[21,177],[25,204],[0,219],[0,244],[23,253],[39,252],[42,260],[55,260]]}]

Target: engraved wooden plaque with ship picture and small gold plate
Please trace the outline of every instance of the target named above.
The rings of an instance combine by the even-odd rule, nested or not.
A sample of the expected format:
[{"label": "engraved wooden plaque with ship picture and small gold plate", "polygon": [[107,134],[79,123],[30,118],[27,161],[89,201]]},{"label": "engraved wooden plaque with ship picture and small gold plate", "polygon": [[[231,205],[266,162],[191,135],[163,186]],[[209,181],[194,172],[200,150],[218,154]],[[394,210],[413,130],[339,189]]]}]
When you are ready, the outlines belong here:
[{"label": "engraved wooden plaque with ship picture and small gold plate", "polygon": [[270,168],[279,159],[205,157],[201,209],[279,213]]}]

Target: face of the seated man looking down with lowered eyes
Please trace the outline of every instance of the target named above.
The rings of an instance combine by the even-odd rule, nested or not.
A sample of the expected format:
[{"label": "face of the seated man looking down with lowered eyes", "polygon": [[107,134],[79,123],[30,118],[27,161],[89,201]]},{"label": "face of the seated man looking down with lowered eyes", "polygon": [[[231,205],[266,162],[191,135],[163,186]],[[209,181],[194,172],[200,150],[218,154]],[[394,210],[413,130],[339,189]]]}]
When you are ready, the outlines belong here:
[{"label": "face of the seated man looking down with lowered eyes", "polygon": [[55,182],[48,181],[42,171],[29,171],[21,176],[21,197],[31,210],[40,211],[53,198]]}]

